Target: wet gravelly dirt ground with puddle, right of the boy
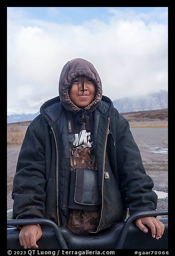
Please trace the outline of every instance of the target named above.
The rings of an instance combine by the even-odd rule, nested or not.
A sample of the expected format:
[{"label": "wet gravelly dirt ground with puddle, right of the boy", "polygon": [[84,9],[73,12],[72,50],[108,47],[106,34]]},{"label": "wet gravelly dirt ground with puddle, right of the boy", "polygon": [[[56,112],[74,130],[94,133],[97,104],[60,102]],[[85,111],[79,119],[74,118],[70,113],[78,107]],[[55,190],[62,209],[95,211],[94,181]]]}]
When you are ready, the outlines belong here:
[{"label": "wet gravelly dirt ground with puddle, right of the boy", "polygon": [[[144,168],[154,181],[154,190],[168,193],[168,128],[132,127]],[[168,196],[158,198],[157,210],[168,209]],[[167,217],[167,216],[164,216]]]}]

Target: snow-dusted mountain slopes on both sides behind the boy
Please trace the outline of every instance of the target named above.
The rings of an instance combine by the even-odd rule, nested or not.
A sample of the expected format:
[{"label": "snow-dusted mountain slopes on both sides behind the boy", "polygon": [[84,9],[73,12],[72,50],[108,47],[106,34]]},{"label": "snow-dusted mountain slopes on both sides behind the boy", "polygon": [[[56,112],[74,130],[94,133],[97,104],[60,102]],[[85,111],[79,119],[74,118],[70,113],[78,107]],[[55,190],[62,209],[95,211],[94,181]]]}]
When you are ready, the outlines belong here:
[{"label": "snow-dusted mountain slopes on both sides behind the boy", "polygon": [[[113,104],[120,113],[165,109],[168,108],[168,93],[165,90],[161,90],[159,93],[147,94],[140,97],[114,99]],[[7,123],[31,121],[38,115],[39,112],[35,114],[7,116]]]}]

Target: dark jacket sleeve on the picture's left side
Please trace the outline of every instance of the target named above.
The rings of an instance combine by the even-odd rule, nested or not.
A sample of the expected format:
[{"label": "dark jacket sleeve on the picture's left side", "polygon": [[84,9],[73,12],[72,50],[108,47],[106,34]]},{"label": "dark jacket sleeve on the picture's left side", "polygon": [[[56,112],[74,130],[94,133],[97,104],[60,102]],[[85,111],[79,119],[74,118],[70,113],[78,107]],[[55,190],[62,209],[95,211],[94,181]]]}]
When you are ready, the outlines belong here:
[{"label": "dark jacket sleeve on the picture's left side", "polygon": [[31,123],[26,131],[13,180],[13,219],[45,215],[45,151]]}]

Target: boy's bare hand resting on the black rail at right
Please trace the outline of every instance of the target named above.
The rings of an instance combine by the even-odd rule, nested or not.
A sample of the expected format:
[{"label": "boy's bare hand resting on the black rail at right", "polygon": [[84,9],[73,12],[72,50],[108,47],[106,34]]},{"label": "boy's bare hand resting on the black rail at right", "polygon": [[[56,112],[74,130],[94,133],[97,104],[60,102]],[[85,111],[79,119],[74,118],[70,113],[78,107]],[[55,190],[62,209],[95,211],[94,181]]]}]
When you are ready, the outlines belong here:
[{"label": "boy's bare hand resting on the black rail at right", "polygon": [[145,233],[148,232],[148,229],[145,225],[149,226],[151,229],[152,237],[156,239],[162,237],[165,229],[165,225],[155,217],[138,218],[136,219],[135,224],[138,229],[142,230]]}]

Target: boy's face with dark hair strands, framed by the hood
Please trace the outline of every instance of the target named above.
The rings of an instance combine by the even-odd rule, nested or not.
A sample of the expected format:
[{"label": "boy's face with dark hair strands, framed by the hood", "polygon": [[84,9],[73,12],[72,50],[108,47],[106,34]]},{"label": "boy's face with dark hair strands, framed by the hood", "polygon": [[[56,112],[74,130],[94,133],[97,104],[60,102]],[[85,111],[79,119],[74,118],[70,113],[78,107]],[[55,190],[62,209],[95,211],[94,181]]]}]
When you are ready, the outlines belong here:
[{"label": "boy's face with dark hair strands, framed by the hood", "polygon": [[82,77],[77,77],[70,88],[69,97],[71,101],[79,108],[84,108],[85,106],[88,106],[95,97],[94,83],[88,77],[84,77],[83,93]]}]

